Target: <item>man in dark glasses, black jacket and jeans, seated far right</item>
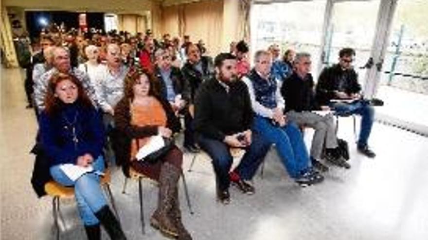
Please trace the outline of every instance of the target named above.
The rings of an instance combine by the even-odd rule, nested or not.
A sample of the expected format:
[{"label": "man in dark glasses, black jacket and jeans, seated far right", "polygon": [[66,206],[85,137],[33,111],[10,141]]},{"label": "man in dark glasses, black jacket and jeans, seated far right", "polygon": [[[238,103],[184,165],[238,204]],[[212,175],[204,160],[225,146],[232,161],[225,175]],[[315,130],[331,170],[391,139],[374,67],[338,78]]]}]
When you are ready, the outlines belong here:
[{"label": "man in dark glasses, black jacket and jeans, seated far right", "polygon": [[329,105],[339,116],[361,115],[357,150],[369,158],[374,158],[375,153],[367,143],[375,111],[360,95],[361,85],[352,66],[354,58],[354,49],[342,48],[339,51],[339,63],[322,70],[316,87],[316,96],[319,104]]}]

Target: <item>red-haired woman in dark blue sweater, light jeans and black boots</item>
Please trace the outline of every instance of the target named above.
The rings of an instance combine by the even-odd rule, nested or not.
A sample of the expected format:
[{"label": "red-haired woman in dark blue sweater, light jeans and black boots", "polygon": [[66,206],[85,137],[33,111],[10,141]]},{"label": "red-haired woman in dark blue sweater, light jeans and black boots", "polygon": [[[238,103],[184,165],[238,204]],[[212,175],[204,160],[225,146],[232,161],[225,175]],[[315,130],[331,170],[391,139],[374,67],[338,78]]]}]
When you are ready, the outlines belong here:
[{"label": "red-haired woman in dark blue sweater, light jeans and black boots", "polygon": [[[98,112],[81,82],[72,75],[54,73],[44,106],[40,115],[40,140],[51,161],[50,174],[57,183],[74,187],[88,239],[101,240],[101,223],[110,239],[125,240],[100,187],[100,175],[105,167],[102,156],[104,131]],[[62,170],[64,164],[92,166],[95,171],[72,180]]]}]

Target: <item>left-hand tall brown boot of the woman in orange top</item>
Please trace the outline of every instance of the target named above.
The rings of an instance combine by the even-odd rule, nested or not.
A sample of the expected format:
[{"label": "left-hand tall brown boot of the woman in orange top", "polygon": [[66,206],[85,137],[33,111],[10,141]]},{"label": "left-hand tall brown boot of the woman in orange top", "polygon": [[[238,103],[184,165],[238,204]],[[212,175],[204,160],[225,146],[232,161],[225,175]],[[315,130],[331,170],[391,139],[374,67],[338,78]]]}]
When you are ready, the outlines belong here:
[{"label": "left-hand tall brown boot of the woman in orange top", "polygon": [[150,224],[154,228],[174,238],[178,237],[178,229],[169,212],[173,208],[174,198],[176,197],[174,189],[177,188],[179,177],[179,171],[174,165],[168,162],[162,164],[159,176],[158,208],[150,219]]}]

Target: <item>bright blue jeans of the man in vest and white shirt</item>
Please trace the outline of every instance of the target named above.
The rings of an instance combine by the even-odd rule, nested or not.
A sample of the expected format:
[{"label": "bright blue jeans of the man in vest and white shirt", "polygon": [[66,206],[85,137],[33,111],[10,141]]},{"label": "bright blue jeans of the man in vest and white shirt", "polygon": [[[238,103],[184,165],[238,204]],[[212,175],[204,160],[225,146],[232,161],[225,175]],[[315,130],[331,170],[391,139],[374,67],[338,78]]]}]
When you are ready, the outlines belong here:
[{"label": "bright blue jeans of the man in vest and white shirt", "polygon": [[256,116],[253,129],[260,132],[266,142],[276,145],[278,155],[292,178],[301,176],[309,168],[309,155],[297,125],[287,123],[284,127],[274,126],[270,119]]}]

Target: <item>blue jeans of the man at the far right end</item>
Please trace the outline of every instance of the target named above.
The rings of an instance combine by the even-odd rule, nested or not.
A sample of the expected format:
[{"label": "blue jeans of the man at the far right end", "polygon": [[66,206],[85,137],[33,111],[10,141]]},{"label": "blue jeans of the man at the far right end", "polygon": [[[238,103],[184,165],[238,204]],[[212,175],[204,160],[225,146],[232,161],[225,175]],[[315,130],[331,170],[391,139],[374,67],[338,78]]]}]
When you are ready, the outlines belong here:
[{"label": "blue jeans of the man at the far right end", "polygon": [[370,132],[372,131],[375,110],[367,101],[360,100],[353,103],[334,103],[332,109],[339,116],[347,116],[351,114],[361,115],[361,127],[358,137],[358,146],[365,146],[369,140]]}]

